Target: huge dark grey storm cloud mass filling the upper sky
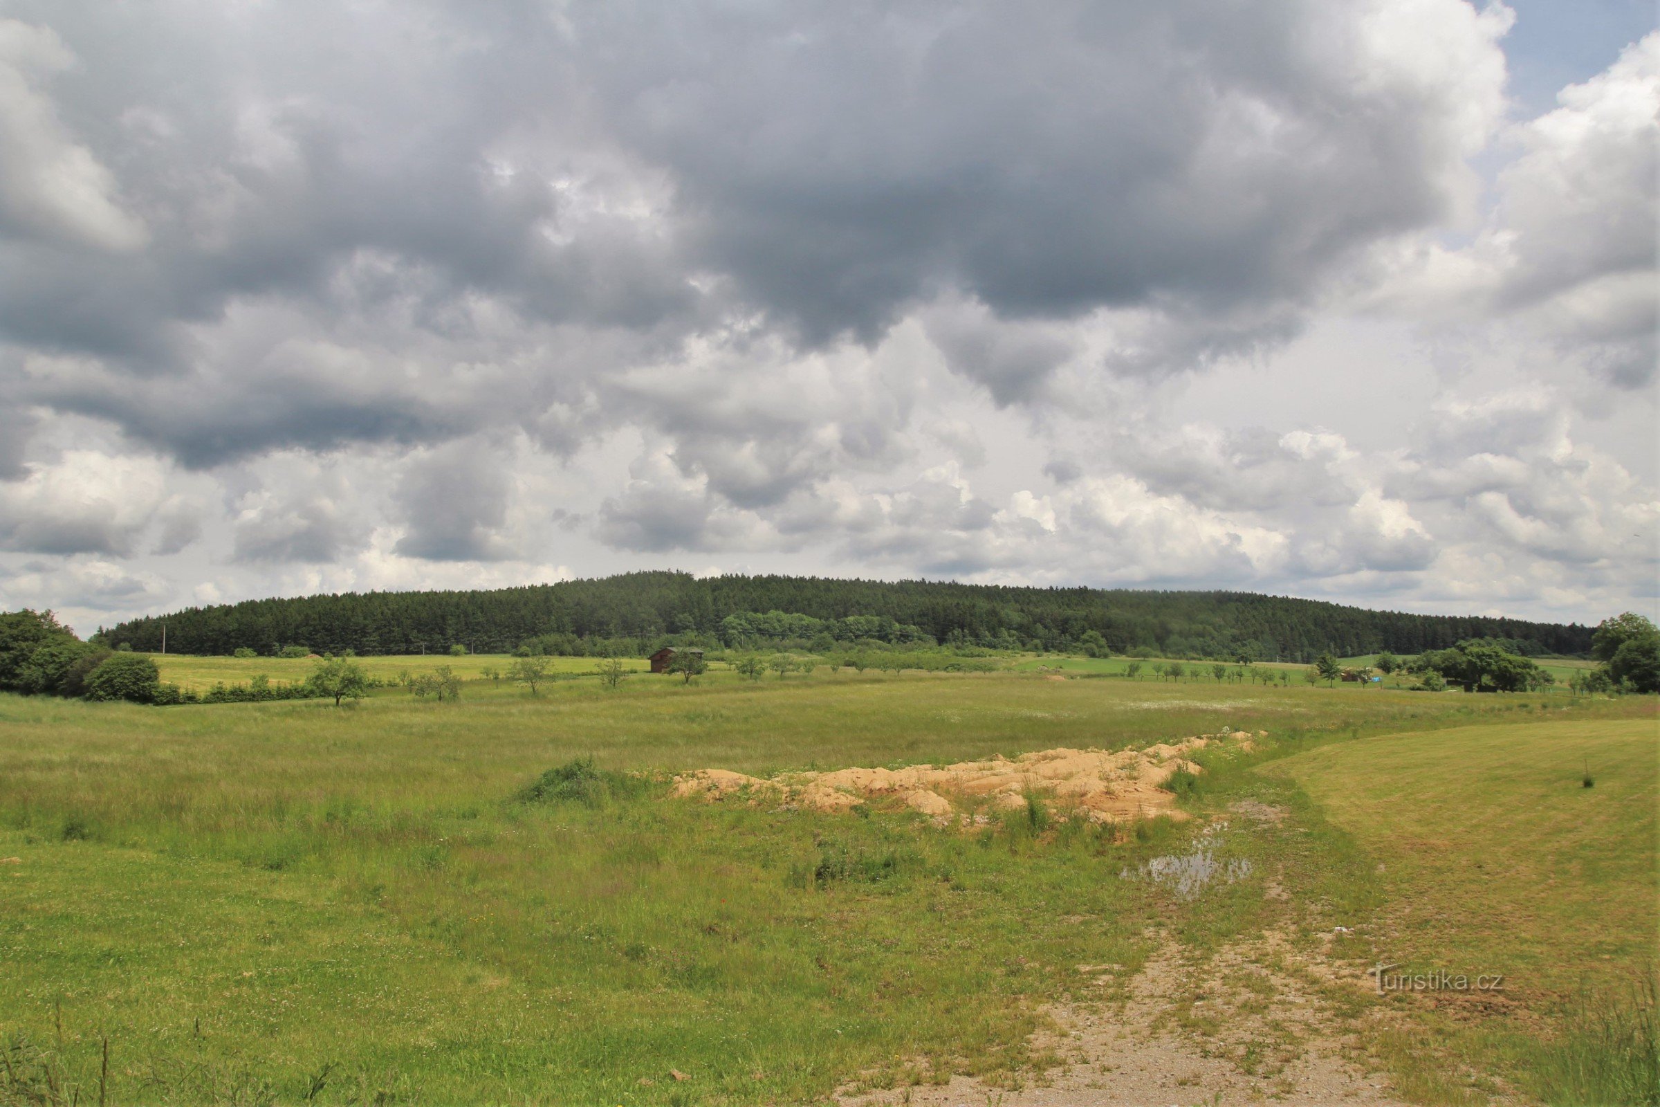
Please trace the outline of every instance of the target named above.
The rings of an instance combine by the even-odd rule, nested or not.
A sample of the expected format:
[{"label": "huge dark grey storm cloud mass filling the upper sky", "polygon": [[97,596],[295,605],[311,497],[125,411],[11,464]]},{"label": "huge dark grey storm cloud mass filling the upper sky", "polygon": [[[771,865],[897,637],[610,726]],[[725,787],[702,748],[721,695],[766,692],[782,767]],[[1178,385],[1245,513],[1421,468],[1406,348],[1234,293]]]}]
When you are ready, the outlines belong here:
[{"label": "huge dark grey storm cloud mass filling the upper sky", "polygon": [[[1446,214],[1459,156],[1462,90],[1336,0],[10,12],[0,161],[75,201],[0,206],[0,334],[103,372],[8,388],[188,465],[559,438],[647,350],[757,314],[870,342],[941,295],[999,403],[1067,354],[1021,320],[1147,310],[1119,358],[1182,368]],[[317,345],[277,357],[272,305]],[[510,380],[432,400],[478,363]]]}]

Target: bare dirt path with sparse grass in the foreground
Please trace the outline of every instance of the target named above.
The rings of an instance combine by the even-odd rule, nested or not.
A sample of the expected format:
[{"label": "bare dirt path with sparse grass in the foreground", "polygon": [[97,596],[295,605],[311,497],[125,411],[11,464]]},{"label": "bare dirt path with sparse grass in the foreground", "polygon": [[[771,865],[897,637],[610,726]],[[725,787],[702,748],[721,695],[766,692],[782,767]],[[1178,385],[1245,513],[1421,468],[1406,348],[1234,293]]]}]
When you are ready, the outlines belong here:
[{"label": "bare dirt path with sparse grass in the foreground", "polygon": [[[1343,1059],[1346,1037],[1270,934],[1202,964],[1169,938],[1122,1001],[1052,1009],[1033,1046],[1062,1064],[1018,1089],[954,1077],[943,1085],[848,1097],[852,1104],[1167,1107],[1170,1104],[1396,1105],[1381,1075]],[[1111,974],[1101,973],[1104,986]]]}]

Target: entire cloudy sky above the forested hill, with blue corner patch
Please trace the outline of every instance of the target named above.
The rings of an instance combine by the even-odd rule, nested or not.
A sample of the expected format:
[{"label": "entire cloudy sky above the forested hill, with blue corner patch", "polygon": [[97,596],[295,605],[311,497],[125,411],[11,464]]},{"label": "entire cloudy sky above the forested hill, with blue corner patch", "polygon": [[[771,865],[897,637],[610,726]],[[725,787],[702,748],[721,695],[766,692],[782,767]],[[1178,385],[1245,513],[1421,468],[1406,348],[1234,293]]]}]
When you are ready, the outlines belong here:
[{"label": "entire cloudy sky above the forested hill, with blue corner patch", "polygon": [[0,607],[1657,612],[1627,0],[0,0]]}]

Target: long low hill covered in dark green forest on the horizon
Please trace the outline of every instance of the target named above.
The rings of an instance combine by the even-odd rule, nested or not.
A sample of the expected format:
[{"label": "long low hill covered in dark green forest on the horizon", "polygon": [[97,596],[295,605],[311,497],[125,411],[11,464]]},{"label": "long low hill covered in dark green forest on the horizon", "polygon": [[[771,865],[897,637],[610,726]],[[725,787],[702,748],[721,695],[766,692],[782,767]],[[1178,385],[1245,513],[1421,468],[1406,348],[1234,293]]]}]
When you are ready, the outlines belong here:
[{"label": "long low hill covered in dark green forest on the horizon", "polygon": [[[792,617],[767,617],[788,612]],[[759,617],[754,617],[759,616]],[[795,576],[629,573],[593,581],[465,593],[347,593],[251,599],[134,619],[100,631],[111,646],[262,654],[282,646],[319,652],[417,654],[465,646],[508,652],[541,639],[546,652],[599,652],[601,641],[749,646],[757,641],[848,639],[1074,649],[1164,656],[1308,661],[1373,651],[1416,654],[1469,637],[1512,639],[1532,654],[1584,654],[1590,629],[1461,616],[1366,611],[1252,593],[1046,589],[943,581],[842,581]],[[606,651],[609,652],[609,651]]]}]

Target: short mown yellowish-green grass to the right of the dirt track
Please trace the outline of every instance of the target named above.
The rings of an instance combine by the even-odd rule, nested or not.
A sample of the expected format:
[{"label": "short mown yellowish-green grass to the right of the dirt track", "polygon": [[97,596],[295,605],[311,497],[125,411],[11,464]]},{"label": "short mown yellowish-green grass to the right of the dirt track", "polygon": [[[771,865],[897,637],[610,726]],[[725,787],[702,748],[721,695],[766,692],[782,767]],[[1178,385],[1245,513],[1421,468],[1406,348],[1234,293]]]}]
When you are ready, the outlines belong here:
[{"label": "short mown yellowish-green grass to the right of the dirt track", "polygon": [[[1406,976],[1502,976],[1487,994],[1389,996],[1409,1021],[1379,1047],[1406,1087],[1461,1099],[1448,1069],[1421,1064],[1434,1042],[1527,1094],[1574,1102],[1560,1052],[1575,1012],[1617,1006],[1660,971],[1657,739],[1652,719],[1459,727],[1325,745],[1265,768],[1378,858],[1383,906],[1338,956]],[[1540,1047],[1552,1037],[1542,1022],[1555,1049]],[[1625,1102],[1605,1095],[1587,1102]]]}]

